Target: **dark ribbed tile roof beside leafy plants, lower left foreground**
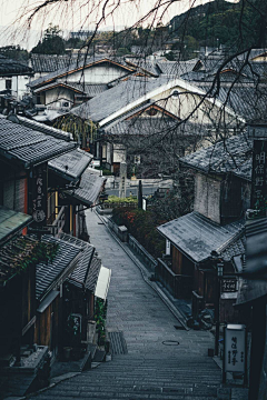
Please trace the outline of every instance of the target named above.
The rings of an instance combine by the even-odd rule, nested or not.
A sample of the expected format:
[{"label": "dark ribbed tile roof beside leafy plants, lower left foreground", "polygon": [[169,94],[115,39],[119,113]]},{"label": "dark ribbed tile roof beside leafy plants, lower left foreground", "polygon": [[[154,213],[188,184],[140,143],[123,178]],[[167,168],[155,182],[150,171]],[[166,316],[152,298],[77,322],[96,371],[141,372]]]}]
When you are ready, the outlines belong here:
[{"label": "dark ribbed tile roof beside leafy plants, lower left foreground", "polygon": [[42,241],[57,243],[59,248],[51,262],[40,262],[36,267],[36,298],[40,301],[53,289],[59,279],[63,280],[72,273],[82,251],[79,246],[47,234],[42,236]]}]

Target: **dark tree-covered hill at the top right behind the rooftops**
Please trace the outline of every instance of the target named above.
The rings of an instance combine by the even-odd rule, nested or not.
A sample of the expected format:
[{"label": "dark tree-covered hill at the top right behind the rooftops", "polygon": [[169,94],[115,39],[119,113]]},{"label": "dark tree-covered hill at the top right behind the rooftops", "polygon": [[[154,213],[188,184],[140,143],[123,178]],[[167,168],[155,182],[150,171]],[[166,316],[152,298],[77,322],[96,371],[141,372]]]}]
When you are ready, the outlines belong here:
[{"label": "dark tree-covered hill at the top right behind the rooftops", "polygon": [[266,46],[266,0],[216,0],[191,8],[170,21],[172,37],[194,38],[199,46],[225,44],[238,49]]}]

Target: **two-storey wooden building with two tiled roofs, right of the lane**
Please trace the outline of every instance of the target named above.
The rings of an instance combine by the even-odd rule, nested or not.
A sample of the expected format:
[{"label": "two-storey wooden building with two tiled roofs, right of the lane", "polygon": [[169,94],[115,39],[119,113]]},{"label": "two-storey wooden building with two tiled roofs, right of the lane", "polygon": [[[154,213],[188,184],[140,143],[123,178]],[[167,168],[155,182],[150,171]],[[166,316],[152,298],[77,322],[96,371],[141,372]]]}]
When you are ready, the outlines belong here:
[{"label": "two-storey wooden building with two tiled roofs, right of the lane", "polygon": [[192,297],[195,318],[204,308],[215,308],[220,284],[220,319],[235,321],[238,282],[233,274],[240,272],[245,253],[251,142],[246,133],[231,137],[182,158],[180,164],[195,171],[194,211],[158,227],[168,243],[167,254],[158,261],[158,279],[176,297]]}]

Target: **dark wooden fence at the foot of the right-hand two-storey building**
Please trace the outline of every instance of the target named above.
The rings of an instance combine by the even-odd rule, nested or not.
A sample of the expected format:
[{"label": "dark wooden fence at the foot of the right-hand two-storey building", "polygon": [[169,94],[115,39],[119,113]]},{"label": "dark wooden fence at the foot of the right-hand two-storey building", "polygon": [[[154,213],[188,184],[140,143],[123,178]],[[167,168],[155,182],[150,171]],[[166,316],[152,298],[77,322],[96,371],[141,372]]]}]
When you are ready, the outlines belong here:
[{"label": "dark wooden fence at the foot of the right-hand two-storey building", "polygon": [[191,298],[192,277],[176,274],[161,259],[158,259],[156,279],[159,280],[175,298]]}]

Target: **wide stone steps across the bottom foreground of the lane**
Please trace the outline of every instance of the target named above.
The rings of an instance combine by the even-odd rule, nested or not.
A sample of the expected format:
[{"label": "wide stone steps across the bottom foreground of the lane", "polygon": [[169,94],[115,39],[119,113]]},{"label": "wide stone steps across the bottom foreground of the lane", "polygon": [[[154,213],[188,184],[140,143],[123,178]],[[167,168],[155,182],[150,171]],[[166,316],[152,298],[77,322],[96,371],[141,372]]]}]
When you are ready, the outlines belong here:
[{"label": "wide stone steps across the bottom foreground of the lane", "polygon": [[208,357],[200,361],[190,354],[179,359],[162,353],[116,354],[111,362],[59,383],[38,399],[228,400],[227,393],[218,397],[220,377]]}]

